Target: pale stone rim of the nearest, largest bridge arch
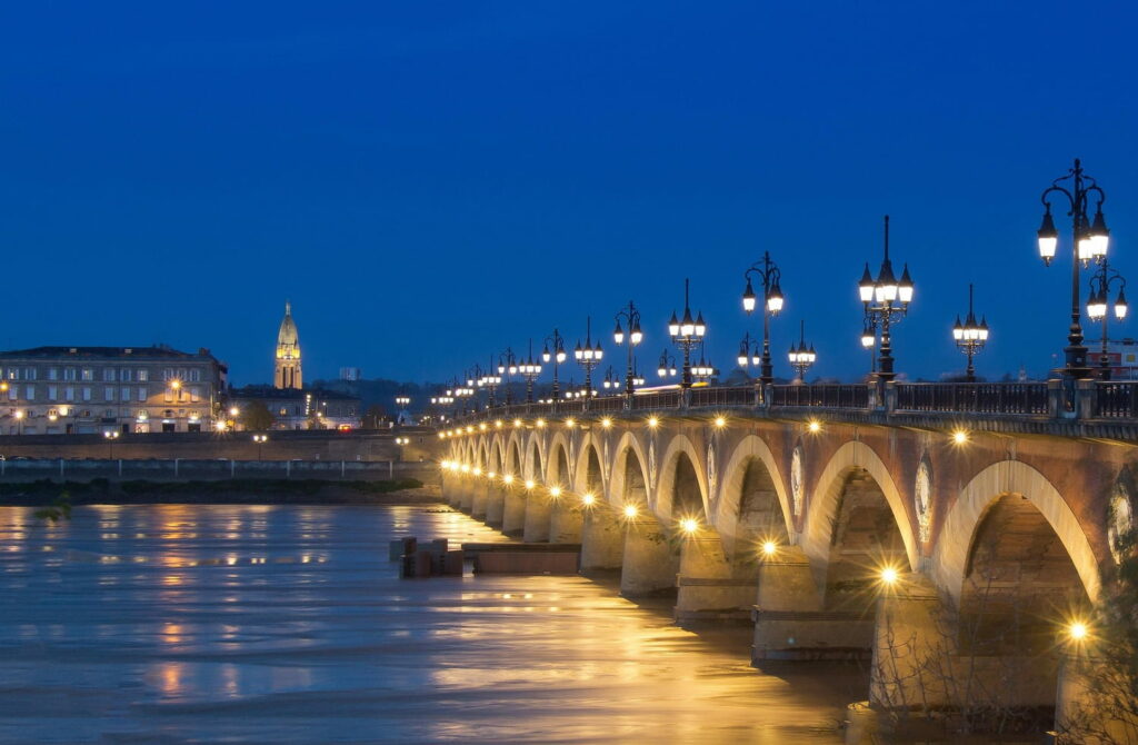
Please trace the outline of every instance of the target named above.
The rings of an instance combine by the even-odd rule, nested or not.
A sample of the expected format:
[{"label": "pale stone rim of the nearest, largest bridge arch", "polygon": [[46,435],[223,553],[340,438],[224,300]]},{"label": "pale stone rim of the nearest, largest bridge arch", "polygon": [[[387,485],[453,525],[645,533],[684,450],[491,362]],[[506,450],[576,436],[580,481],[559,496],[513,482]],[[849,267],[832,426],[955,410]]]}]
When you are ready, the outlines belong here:
[{"label": "pale stone rim of the nearest, largest bridge arch", "polygon": [[1097,601],[1102,575],[1079,518],[1044,474],[1019,460],[1003,460],[978,473],[960,490],[937,534],[933,566],[938,583],[960,601],[976,538],[984,518],[1007,496],[1020,496],[1042,515],[1066,549],[1087,597]]}]

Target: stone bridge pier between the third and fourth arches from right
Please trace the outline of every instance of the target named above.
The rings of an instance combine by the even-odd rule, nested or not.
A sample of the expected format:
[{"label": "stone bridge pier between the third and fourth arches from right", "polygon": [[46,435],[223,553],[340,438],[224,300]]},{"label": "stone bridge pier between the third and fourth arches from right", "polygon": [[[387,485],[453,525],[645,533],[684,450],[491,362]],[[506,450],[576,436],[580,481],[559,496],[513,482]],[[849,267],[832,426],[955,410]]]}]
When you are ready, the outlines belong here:
[{"label": "stone bridge pier between the third and fourth arches from right", "polygon": [[679,550],[676,621],[749,619],[756,581],[753,571],[727,558],[717,535],[686,538]]}]

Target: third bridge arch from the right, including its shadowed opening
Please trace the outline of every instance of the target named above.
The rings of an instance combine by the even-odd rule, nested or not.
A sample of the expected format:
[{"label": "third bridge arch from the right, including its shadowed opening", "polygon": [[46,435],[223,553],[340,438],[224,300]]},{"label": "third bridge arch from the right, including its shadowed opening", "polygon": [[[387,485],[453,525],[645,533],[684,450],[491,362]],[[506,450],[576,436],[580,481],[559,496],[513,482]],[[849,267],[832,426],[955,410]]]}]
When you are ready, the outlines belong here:
[{"label": "third bridge arch from the right, including its shadowed opening", "polygon": [[723,474],[715,527],[724,547],[734,551],[740,541],[748,539],[789,543],[794,525],[790,497],[766,441],[753,434],[743,437]]}]

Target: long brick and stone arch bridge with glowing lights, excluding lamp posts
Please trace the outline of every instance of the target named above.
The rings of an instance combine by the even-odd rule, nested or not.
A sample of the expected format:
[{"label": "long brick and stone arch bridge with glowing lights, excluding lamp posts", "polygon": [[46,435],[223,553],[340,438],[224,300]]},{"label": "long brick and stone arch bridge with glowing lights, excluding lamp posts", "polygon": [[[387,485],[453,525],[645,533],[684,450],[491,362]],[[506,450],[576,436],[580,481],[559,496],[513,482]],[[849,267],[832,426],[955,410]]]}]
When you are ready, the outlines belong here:
[{"label": "long brick and stone arch bridge with glowing lights, excluding lamp posts", "polygon": [[627,596],[675,592],[681,622],[753,621],[756,662],[872,660],[877,706],[1062,719],[1092,669],[1057,640],[1092,617],[1132,526],[1136,393],[890,383],[498,407],[439,433],[443,493],[526,541],[579,541],[582,571],[619,570]]}]

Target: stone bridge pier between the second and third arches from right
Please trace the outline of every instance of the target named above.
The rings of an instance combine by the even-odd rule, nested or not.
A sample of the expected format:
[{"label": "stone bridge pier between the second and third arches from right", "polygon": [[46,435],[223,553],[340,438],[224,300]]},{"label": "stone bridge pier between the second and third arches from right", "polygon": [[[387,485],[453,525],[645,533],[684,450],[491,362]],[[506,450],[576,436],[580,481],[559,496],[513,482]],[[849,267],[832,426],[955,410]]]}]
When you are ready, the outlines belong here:
[{"label": "stone bridge pier between the second and third arches from right", "polygon": [[873,619],[826,611],[798,546],[782,546],[758,568],[751,662],[764,660],[867,658],[873,647]]}]

